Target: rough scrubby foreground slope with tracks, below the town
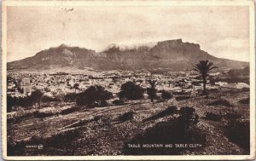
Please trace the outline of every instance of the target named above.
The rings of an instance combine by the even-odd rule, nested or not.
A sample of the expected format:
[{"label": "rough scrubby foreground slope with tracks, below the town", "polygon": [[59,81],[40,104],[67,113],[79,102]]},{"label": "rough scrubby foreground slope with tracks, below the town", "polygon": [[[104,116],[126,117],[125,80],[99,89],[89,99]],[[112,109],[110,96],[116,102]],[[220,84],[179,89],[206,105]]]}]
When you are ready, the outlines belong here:
[{"label": "rough scrubby foreground slope with tracks, below the town", "polygon": [[[249,92],[242,92],[228,93],[221,99],[212,94],[208,99],[201,96],[154,103],[127,101],[125,105],[90,109],[72,103],[45,107],[39,112],[27,110],[22,116],[14,112],[8,117],[8,155],[248,154],[249,147],[227,135],[227,122],[231,118],[225,118],[227,113],[236,113],[241,115],[239,119],[249,120],[248,97]],[[168,106],[193,107],[199,116],[196,130],[186,136],[194,138],[188,140],[187,147],[182,141],[172,147],[155,145],[160,138],[168,143],[173,132],[168,128],[177,114],[168,113]],[[120,119],[125,112],[133,112],[133,117]]]}]

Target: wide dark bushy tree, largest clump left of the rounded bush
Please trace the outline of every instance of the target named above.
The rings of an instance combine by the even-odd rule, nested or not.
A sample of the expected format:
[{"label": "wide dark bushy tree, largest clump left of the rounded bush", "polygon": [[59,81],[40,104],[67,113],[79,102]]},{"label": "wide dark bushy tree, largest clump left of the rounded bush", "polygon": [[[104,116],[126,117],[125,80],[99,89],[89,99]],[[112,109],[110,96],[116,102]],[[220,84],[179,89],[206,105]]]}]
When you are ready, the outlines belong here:
[{"label": "wide dark bushy tree, largest clump left of the rounded bush", "polygon": [[85,89],[84,92],[80,93],[77,97],[77,105],[94,105],[95,103],[98,106],[107,105],[107,100],[112,98],[113,95],[108,90],[105,90],[102,86],[90,86],[88,89]]}]

